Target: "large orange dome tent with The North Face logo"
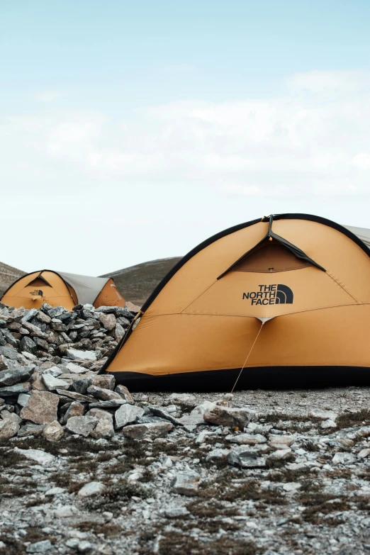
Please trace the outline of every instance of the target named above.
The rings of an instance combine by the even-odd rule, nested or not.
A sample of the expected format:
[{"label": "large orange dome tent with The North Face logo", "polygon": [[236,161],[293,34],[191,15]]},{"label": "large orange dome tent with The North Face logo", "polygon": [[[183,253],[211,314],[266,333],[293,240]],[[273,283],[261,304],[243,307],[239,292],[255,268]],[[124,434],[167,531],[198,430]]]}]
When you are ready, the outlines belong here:
[{"label": "large orange dome tent with The North Face logo", "polygon": [[369,369],[370,250],[325,218],[260,218],[189,252],[139,316],[103,366],[132,389]]}]

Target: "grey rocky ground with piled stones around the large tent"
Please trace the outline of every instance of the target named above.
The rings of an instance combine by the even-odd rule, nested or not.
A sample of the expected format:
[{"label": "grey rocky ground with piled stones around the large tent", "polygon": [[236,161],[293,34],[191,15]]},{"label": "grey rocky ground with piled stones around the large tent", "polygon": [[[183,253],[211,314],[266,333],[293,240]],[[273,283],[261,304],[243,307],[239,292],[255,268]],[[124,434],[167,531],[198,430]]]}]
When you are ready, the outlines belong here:
[{"label": "grey rocky ground with piled stones around the large tent", "polygon": [[131,395],[123,310],[0,310],[0,553],[370,552],[370,388]]}]

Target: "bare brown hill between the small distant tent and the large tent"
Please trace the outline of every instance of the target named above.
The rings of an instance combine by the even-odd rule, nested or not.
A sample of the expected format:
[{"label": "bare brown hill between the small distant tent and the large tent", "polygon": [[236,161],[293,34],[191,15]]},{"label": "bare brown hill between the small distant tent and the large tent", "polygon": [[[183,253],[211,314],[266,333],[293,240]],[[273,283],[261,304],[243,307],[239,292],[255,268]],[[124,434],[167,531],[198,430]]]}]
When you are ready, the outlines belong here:
[{"label": "bare brown hill between the small distant tent and the large tent", "polygon": [[101,277],[112,277],[120,293],[126,301],[141,306],[152,293],[159,281],[179,262],[181,257],[161,258],[142,262],[130,268],[112,271]]}]

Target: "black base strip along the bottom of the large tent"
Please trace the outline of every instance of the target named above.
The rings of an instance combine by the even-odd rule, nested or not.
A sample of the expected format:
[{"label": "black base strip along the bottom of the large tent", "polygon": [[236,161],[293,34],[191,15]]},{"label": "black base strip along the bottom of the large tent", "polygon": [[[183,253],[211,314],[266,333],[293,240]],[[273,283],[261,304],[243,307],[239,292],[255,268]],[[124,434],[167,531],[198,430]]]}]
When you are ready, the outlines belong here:
[{"label": "black base strip along the bottom of the large tent", "polygon": [[[114,372],[116,383],[130,391],[231,391],[240,368],[151,376],[137,372]],[[269,366],[245,368],[237,390],[314,389],[325,387],[370,386],[370,367],[358,366]]]}]

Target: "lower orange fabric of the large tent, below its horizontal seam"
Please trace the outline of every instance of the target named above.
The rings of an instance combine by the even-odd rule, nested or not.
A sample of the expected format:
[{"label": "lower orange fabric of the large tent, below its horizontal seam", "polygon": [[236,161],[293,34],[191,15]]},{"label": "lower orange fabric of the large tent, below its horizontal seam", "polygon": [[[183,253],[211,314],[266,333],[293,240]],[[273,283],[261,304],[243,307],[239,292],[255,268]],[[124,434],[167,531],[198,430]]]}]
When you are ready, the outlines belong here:
[{"label": "lower orange fabric of the large tent, below its horizontal seam", "polygon": [[[370,367],[369,321],[370,305],[279,316],[264,324],[246,368]],[[241,368],[261,325],[237,316],[144,315],[108,371],[160,376]]]}]

